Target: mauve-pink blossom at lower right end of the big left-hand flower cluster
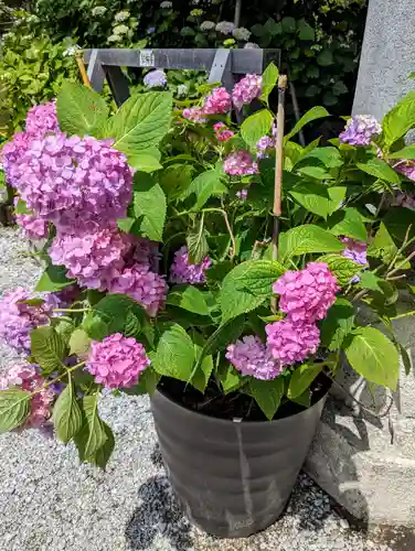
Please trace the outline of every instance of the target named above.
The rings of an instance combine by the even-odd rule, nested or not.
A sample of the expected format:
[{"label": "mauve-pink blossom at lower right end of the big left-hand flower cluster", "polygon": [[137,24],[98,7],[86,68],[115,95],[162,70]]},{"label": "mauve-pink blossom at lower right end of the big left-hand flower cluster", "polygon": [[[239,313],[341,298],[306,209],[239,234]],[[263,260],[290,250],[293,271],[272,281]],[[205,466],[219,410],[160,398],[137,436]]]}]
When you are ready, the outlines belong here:
[{"label": "mauve-pink blossom at lower right end of the big left-hand flower cluster", "polygon": [[124,268],[108,284],[108,291],[128,294],[150,316],[155,316],[166,302],[168,285],[162,276],[151,271],[150,266],[137,263],[131,268]]}]

